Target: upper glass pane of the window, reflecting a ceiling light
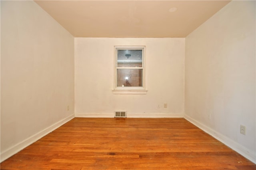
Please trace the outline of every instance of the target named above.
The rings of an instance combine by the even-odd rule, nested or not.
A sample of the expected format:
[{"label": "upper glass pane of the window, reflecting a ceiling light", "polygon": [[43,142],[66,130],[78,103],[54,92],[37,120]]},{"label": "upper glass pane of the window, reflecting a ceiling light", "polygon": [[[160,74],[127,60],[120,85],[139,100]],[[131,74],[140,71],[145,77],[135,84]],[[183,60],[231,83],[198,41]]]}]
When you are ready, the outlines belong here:
[{"label": "upper glass pane of the window, reflecting a ceiling light", "polygon": [[142,67],[142,50],[117,50],[117,67]]}]

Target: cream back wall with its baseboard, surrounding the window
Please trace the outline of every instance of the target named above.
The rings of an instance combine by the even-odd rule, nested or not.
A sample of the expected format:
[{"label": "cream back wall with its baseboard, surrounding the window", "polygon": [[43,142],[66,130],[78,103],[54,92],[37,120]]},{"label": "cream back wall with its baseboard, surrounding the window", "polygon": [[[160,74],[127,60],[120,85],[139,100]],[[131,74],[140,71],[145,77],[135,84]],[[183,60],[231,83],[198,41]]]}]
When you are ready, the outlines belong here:
[{"label": "cream back wall with its baseboard, surrounding the window", "polygon": [[[76,116],[114,117],[114,110],[127,110],[128,117],[183,117],[184,43],[184,38],[75,38]],[[146,46],[148,92],[113,94],[114,46],[135,45]]]}]

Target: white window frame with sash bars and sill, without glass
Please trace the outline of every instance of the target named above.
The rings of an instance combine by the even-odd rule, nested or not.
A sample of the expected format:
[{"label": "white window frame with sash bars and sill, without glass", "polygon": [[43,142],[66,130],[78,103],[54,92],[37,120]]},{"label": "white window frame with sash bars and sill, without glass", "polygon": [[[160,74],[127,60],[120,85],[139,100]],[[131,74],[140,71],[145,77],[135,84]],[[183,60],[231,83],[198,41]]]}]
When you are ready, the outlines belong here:
[{"label": "white window frame with sash bars and sill, without glass", "polygon": [[[117,67],[118,50],[142,50],[142,67]],[[114,90],[113,94],[146,94],[145,86],[145,55],[146,46],[114,46]],[[142,87],[119,87],[117,86],[117,69],[141,69],[142,70]]]}]

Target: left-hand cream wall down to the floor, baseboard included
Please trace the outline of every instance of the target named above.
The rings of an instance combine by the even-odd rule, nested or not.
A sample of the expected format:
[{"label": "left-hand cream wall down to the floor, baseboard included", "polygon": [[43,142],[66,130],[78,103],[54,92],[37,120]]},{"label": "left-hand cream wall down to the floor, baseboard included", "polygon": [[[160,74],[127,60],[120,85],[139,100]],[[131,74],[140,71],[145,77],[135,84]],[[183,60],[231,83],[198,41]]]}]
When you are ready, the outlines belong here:
[{"label": "left-hand cream wall down to the floor, baseboard included", "polygon": [[34,1],[1,1],[1,161],[72,117],[74,37]]}]

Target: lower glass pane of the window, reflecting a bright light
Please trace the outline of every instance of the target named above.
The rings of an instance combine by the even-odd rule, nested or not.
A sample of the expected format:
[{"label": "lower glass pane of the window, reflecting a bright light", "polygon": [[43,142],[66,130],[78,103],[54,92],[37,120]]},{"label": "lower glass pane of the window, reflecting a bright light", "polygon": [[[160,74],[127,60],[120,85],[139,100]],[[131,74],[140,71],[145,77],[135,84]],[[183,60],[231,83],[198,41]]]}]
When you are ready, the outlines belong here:
[{"label": "lower glass pane of the window, reflecting a bright light", "polygon": [[118,87],[142,87],[142,69],[117,69]]}]

